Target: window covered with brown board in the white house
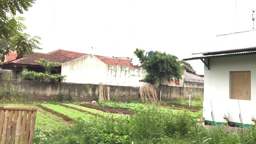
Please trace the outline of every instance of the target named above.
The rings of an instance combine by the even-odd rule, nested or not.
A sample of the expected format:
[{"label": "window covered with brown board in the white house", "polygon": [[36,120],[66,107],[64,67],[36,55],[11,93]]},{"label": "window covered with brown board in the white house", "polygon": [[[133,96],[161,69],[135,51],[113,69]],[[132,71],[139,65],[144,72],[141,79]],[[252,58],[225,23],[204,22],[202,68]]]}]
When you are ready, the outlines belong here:
[{"label": "window covered with brown board in the white house", "polygon": [[230,99],[251,100],[251,71],[230,72]]}]

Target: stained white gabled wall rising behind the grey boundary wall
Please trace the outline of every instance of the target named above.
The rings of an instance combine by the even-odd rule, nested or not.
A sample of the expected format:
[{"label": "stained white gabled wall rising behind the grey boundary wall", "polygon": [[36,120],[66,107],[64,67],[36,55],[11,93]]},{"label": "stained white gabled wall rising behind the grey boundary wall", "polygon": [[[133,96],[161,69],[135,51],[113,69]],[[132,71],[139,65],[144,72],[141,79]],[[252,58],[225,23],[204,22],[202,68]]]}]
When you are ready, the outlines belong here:
[{"label": "stained white gabled wall rising behind the grey boundary wall", "polygon": [[142,86],[139,82],[147,75],[146,70],[128,66],[107,65],[94,55],[86,55],[62,64],[61,75],[67,75],[65,82],[91,83],[102,82],[118,86]]}]

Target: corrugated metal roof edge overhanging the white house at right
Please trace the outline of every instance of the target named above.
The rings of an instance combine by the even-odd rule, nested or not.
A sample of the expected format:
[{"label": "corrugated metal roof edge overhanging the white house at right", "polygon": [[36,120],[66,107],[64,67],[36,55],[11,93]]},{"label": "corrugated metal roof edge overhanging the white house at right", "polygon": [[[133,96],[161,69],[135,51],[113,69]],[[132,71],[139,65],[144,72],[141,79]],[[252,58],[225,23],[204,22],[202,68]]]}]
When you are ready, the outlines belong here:
[{"label": "corrugated metal roof edge overhanging the white house at right", "polygon": [[199,56],[199,57],[186,58],[186,59],[183,59],[183,60],[187,61],[187,60],[198,60],[198,59],[205,59],[205,58],[218,58],[218,57],[229,57],[229,56],[249,55],[249,54],[256,54],[256,51],[241,52],[241,53],[229,53],[229,54],[207,55],[207,56]]}]

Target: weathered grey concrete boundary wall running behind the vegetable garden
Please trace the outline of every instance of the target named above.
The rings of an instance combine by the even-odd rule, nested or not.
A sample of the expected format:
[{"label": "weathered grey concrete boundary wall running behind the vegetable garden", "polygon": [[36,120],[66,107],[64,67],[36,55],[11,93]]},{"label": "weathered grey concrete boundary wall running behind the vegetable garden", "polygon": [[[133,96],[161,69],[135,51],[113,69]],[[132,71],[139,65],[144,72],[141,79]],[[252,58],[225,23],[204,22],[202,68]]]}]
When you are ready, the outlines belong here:
[{"label": "weathered grey concrete boundary wall running behind the vegetable garden", "polygon": [[[26,94],[28,101],[48,101],[50,99],[59,99],[62,93],[65,93],[65,100],[68,100],[70,93],[73,94],[74,101],[93,101],[98,95],[98,85],[81,84],[67,82],[34,82],[21,80],[0,79],[0,90],[11,85],[19,93]],[[202,88],[176,87],[162,85],[162,100],[173,100],[183,97],[188,99],[192,94],[203,97]],[[157,89],[158,97],[160,91]],[[110,85],[110,96],[115,97],[116,101],[135,101],[140,99],[137,87],[130,86],[112,86]]]}]

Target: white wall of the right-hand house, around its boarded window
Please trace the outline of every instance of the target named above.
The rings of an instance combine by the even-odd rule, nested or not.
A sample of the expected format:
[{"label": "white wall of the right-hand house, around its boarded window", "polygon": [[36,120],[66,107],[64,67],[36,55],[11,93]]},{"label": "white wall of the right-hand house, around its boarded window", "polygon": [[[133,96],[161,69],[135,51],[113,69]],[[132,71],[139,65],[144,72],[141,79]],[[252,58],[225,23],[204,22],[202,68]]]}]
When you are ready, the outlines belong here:
[{"label": "white wall of the right-hand house, around its boarded window", "polygon": [[[205,60],[207,62],[207,60]],[[239,100],[243,123],[251,124],[256,118],[256,55],[233,56],[210,59],[210,70],[204,66],[204,102],[203,117],[212,121],[213,109],[215,121],[223,122],[224,114],[229,121],[240,122],[238,100],[229,99],[231,71],[251,71],[251,101]],[[212,106],[211,102],[212,100]]]}]

